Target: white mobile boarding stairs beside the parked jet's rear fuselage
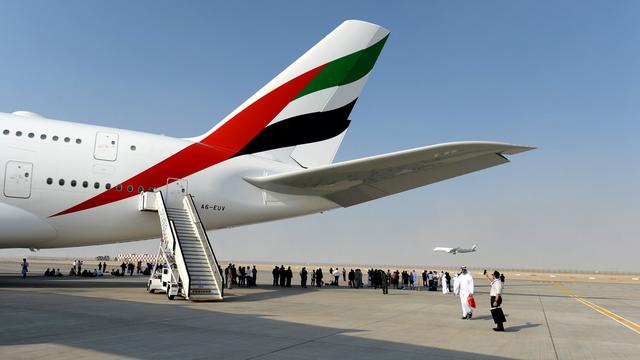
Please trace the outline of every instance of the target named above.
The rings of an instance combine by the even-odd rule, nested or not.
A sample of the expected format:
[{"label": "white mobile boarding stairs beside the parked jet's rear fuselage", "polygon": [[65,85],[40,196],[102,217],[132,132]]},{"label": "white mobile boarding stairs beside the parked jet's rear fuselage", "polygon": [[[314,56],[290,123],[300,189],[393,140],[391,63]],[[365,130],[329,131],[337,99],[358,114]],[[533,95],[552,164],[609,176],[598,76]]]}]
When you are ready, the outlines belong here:
[{"label": "white mobile boarding stairs beside the parked jet's rear fuselage", "polygon": [[139,209],[157,211],[162,228],[159,256],[151,277],[159,267],[168,267],[172,274],[171,286],[178,287],[178,295],[194,301],[222,300],[221,268],[193,197],[186,194],[169,205],[162,192],[145,192],[141,195]]}]

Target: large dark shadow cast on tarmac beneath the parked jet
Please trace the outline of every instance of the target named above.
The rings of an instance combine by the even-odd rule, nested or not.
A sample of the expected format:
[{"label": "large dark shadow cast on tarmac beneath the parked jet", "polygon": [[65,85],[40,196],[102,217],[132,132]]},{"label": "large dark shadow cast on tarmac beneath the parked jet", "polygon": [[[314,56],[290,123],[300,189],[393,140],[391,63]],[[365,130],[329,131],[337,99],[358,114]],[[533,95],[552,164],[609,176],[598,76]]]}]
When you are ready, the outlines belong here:
[{"label": "large dark shadow cast on tarmac beneath the parked jet", "polygon": [[[96,282],[101,288],[140,287],[139,281],[63,282],[37,278],[20,281],[9,283],[15,287],[19,283],[19,287],[76,288],[93,286]],[[2,281],[2,285],[6,287],[7,282]],[[266,293],[247,294],[243,296],[244,300],[230,298],[229,302],[258,301],[299,293],[289,290],[277,288]],[[76,349],[94,352],[80,353],[80,357],[110,354],[138,359],[337,359],[347,354],[351,359],[505,359],[355,337],[361,332],[357,329],[274,320],[261,314],[227,313],[223,312],[225,303],[197,304],[196,307],[188,302],[150,304],[10,289],[0,289],[0,294],[3,298],[0,346],[40,345],[33,348],[35,353],[32,355],[48,359],[76,357],[73,354]],[[64,348],[62,352],[60,347],[55,348],[55,353],[47,355],[47,349],[52,350],[47,347],[51,345]],[[0,354],[15,351],[10,349],[0,349]],[[31,348],[23,347],[19,351],[26,355]]]}]

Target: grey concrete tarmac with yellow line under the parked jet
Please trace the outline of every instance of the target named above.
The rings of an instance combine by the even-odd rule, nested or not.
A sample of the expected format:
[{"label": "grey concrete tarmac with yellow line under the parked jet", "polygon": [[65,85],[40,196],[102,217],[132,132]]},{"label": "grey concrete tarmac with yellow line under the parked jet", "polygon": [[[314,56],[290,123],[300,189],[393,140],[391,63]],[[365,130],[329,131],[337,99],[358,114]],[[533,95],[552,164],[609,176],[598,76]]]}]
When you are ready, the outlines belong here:
[{"label": "grey concrete tarmac with yellow line under the parked jet", "polygon": [[506,331],[495,333],[488,282],[474,277],[478,309],[461,320],[452,294],[279,288],[263,271],[257,287],[195,303],[147,293],[144,276],[5,270],[0,359],[640,358],[640,285],[508,278]]}]

